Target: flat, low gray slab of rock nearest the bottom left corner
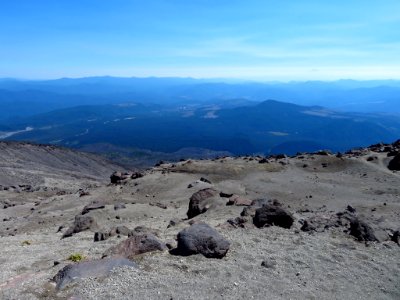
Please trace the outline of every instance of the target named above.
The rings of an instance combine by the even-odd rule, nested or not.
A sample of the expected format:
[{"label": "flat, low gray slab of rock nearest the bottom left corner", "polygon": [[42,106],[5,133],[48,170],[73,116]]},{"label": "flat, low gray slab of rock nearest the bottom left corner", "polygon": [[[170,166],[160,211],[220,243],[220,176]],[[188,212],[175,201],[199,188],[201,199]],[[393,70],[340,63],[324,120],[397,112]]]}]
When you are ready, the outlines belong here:
[{"label": "flat, low gray slab of rock nearest the bottom left corner", "polygon": [[84,261],[65,266],[53,277],[52,281],[56,283],[57,290],[62,290],[72,282],[87,277],[104,277],[114,268],[122,266],[137,268],[134,262],[125,258],[105,258]]}]

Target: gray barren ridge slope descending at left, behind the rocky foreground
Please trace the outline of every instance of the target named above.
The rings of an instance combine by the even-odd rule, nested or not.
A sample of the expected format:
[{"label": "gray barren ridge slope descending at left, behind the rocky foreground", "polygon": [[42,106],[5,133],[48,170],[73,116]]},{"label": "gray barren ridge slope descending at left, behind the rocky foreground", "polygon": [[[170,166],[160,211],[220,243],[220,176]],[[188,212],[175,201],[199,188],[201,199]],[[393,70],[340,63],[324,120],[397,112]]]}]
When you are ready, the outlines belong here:
[{"label": "gray barren ridge slope descending at left, behind the rocky foreground", "polygon": [[122,168],[99,156],[66,148],[0,142],[0,169],[0,186],[54,187],[60,181],[106,181],[110,170]]}]

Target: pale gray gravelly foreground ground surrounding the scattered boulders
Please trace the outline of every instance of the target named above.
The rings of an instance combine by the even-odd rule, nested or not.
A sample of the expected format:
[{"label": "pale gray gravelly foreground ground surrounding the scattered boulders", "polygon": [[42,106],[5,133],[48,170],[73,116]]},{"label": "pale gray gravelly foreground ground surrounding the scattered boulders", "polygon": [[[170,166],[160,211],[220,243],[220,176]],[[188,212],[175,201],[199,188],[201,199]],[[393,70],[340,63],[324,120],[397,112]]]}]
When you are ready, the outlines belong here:
[{"label": "pale gray gravelly foreground ground surrounding the scattered boulders", "polygon": [[[57,193],[0,191],[4,204],[0,208],[0,220],[4,220],[0,222],[0,298],[400,299],[400,247],[394,238],[400,228],[400,174],[387,168],[393,153],[388,156],[382,149],[372,147],[344,156],[186,160],[162,164],[143,177],[118,184],[86,186],[85,194],[71,188],[63,192],[63,182],[58,183]],[[399,148],[391,151],[398,153]],[[63,170],[62,162],[54,157],[50,164],[54,168],[49,169],[60,172],[54,171],[55,178],[75,172],[71,164]],[[26,164],[21,161],[21,168],[14,171],[27,172]],[[1,167],[2,173],[8,168]],[[77,166],[76,172],[81,174],[84,168]],[[70,187],[73,176],[68,180]],[[204,188],[218,193],[209,199],[206,212],[188,220],[189,199]],[[244,204],[277,199],[294,223],[289,229],[257,228],[251,216],[243,217],[241,224],[229,223],[243,211],[243,206],[226,205],[230,194],[240,196]],[[61,239],[75,216],[93,202],[97,203],[91,208],[97,209],[85,210],[84,216],[95,220],[96,226]],[[115,210],[116,204],[125,208],[120,205],[123,209]],[[366,227],[361,227],[373,232],[377,241],[359,241],[350,235],[348,219],[365,222]],[[315,228],[305,228],[305,221]],[[205,222],[228,240],[226,256],[148,252],[130,257],[137,268],[126,266],[109,274],[75,278],[61,290],[50,282],[72,263],[71,254],[79,253],[97,264],[107,249],[127,239],[120,233],[94,242],[94,231],[142,226],[136,231],[152,232],[174,247],[178,232],[192,222]]]}]

